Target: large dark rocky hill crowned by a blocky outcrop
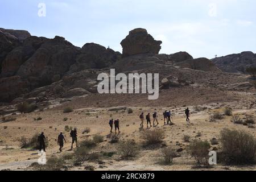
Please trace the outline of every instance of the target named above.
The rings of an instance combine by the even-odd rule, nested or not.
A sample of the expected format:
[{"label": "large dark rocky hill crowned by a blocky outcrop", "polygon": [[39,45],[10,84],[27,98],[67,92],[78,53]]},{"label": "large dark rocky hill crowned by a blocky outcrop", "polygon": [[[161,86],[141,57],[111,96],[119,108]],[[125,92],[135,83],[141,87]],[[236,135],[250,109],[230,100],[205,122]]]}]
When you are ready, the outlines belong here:
[{"label": "large dark rocky hill crowned by a blocky outcrop", "polygon": [[[159,73],[162,89],[202,84],[211,75],[225,77],[206,58],[193,59],[187,52],[159,54],[160,44],[143,28],[130,31],[122,40],[122,54],[95,43],[79,48],[60,36],[48,39],[1,28],[0,102],[47,102],[94,94],[98,74],[108,73],[110,68],[124,73]],[[216,85],[221,84],[228,82]]]}]

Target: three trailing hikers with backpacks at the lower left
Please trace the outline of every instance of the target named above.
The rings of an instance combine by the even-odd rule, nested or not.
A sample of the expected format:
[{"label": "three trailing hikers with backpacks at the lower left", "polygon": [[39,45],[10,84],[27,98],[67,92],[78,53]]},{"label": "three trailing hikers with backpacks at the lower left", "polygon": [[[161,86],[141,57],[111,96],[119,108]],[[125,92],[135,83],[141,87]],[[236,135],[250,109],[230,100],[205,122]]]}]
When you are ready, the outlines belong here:
[{"label": "three trailing hikers with backpacks at the lower left", "polygon": [[[71,149],[73,149],[73,144],[76,142],[77,147],[77,129],[71,130],[70,137],[72,138],[72,144]],[[48,138],[44,135],[44,132],[42,132],[38,136],[38,142],[39,142],[39,151],[46,152],[46,139]],[[60,146],[59,150],[62,152],[62,148],[64,147],[64,142],[67,143],[67,140],[65,139],[63,132],[61,132],[57,138],[57,144]]]}]

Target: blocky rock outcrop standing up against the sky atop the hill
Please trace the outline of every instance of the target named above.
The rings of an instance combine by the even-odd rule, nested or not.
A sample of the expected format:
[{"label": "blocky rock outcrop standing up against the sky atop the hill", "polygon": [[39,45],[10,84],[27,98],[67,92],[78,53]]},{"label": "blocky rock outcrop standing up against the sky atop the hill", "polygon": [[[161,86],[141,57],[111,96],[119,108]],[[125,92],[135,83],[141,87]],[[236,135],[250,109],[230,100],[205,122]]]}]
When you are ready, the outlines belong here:
[{"label": "blocky rock outcrop standing up against the sky atop the hill", "polygon": [[146,29],[137,28],[129,32],[122,40],[123,57],[139,55],[143,53],[158,54],[162,41],[155,40]]}]

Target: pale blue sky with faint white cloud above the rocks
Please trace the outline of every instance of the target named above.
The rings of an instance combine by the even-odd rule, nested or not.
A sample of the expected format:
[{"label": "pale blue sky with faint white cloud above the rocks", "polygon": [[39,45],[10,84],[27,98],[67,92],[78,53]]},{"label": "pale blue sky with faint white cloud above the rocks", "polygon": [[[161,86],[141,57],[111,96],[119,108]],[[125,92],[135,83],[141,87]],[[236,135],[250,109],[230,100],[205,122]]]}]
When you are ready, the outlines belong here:
[{"label": "pale blue sky with faint white cloud above the rocks", "polygon": [[[39,3],[46,17],[38,16]],[[163,41],[160,53],[213,58],[256,52],[255,12],[255,0],[0,0],[0,27],[120,52],[121,40],[142,27]]]}]

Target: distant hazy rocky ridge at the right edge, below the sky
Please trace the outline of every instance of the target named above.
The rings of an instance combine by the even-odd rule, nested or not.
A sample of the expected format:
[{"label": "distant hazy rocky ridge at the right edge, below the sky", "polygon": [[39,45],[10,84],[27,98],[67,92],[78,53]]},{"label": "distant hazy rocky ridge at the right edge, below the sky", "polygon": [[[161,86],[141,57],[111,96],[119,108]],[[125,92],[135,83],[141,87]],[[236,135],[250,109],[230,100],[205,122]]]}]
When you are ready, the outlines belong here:
[{"label": "distant hazy rocky ridge at the right edge, below the sky", "polygon": [[245,69],[251,65],[256,65],[256,54],[250,51],[232,54],[228,56],[212,59],[224,72],[245,73]]}]

